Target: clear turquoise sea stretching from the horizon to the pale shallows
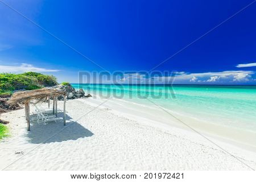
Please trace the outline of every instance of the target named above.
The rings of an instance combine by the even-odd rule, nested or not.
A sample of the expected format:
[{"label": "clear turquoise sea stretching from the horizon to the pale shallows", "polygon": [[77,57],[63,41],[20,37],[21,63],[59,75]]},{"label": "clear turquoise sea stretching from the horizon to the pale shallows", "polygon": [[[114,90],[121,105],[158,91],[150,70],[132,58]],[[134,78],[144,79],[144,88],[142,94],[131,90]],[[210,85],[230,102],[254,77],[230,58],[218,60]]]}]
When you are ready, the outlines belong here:
[{"label": "clear turquoise sea stretching from the horizon to the pale shallows", "polygon": [[[123,105],[163,107],[201,122],[256,133],[256,85],[72,84],[86,93],[113,97]],[[145,99],[147,97],[150,101]]]}]

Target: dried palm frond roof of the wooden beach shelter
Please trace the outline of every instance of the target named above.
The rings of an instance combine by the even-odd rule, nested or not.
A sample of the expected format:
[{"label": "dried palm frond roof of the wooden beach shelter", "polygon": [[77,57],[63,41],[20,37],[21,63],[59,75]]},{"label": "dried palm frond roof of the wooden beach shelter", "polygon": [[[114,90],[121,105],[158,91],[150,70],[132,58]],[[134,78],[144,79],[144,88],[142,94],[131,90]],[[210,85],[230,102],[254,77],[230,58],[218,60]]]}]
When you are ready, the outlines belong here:
[{"label": "dried palm frond roof of the wooden beach shelter", "polygon": [[34,102],[34,104],[38,104],[40,102],[45,102],[48,97],[59,97],[65,96],[66,94],[67,92],[49,88],[15,92],[13,96],[11,96],[8,103],[10,105],[18,103],[26,104],[28,102]]}]

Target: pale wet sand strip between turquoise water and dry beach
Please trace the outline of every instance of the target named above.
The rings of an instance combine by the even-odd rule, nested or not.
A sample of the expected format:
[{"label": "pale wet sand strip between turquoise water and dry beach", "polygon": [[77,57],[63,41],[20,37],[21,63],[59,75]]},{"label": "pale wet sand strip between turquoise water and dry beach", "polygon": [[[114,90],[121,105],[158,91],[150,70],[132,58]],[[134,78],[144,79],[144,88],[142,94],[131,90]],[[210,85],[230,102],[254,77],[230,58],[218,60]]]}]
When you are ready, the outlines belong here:
[{"label": "pale wet sand strip between turquoise water and dry beach", "polygon": [[[86,102],[86,100],[82,101],[92,106],[97,106],[98,104],[104,101],[100,96],[95,96],[95,94],[94,98],[97,99],[90,100],[90,102]],[[113,99],[113,103],[109,104],[109,101],[112,101]],[[178,129],[186,130],[189,132],[191,132],[192,129],[194,129],[199,133],[205,135],[206,137],[208,136],[212,138],[217,138],[217,140],[221,140],[226,143],[232,143],[236,147],[246,148],[246,150],[256,152],[255,140],[251,140],[253,138],[256,138],[256,133],[253,133],[251,131],[245,131],[243,129],[238,129],[232,126],[228,127],[225,125],[220,125],[218,123],[200,121],[197,118],[187,117],[180,113],[172,112],[172,115],[175,115],[175,117],[180,118],[185,123],[183,124],[177,121],[177,119],[174,118],[172,115],[168,115],[164,113],[163,110],[158,110],[158,108],[156,107],[154,109],[156,109],[160,114],[156,112],[154,113],[154,110],[150,108],[150,106],[139,105],[135,102],[130,102],[127,100],[118,99],[114,97],[111,98],[109,101],[107,101],[105,105],[107,105],[106,107],[109,107],[109,109],[112,109],[112,113],[114,114],[121,115],[127,118],[133,118],[136,121],[143,121],[142,123],[151,123],[152,126],[154,127],[159,127],[160,124],[162,125],[163,129],[170,129],[171,127],[176,127]],[[122,102],[126,102],[125,104],[128,104],[123,109],[121,108],[124,104]],[[121,105],[121,107],[118,107],[117,105]],[[139,106],[137,107],[134,105]],[[142,107],[146,107],[146,109],[142,109]],[[141,110],[137,111],[136,109]],[[154,114],[156,115],[156,117]],[[185,125],[192,127],[192,129]]]}]

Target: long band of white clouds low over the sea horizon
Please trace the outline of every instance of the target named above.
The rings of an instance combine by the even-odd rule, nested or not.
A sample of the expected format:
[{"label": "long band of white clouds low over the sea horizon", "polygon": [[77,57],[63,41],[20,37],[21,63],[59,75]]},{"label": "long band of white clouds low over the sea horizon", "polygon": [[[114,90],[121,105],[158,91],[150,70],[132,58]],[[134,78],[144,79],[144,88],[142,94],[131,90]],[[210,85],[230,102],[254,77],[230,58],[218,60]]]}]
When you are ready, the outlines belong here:
[{"label": "long band of white clouds low over the sea horizon", "polygon": [[[27,65],[26,67],[31,67]],[[144,73],[144,72],[143,72]],[[179,72],[163,73],[161,76],[152,74],[144,75],[143,73],[123,73],[119,76],[113,76],[104,80],[104,83],[119,82],[120,84],[235,84],[236,82],[255,82],[253,71],[223,71],[223,72],[205,72],[205,73],[187,73]],[[94,80],[92,80],[94,81]],[[102,83],[102,80],[100,80]],[[95,82],[95,81],[94,81]]]}]

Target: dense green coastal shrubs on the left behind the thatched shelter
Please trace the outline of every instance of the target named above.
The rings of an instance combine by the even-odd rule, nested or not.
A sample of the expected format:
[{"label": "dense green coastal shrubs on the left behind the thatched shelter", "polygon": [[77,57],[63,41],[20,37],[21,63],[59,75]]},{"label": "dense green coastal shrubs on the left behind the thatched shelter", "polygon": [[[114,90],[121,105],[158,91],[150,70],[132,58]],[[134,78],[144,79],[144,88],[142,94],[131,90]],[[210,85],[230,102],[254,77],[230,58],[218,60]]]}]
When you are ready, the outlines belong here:
[{"label": "dense green coastal shrubs on the left behind the thatched shelter", "polygon": [[55,76],[42,73],[0,73],[0,94],[12,94],[14,90],[33,90],[57,85]]}]

